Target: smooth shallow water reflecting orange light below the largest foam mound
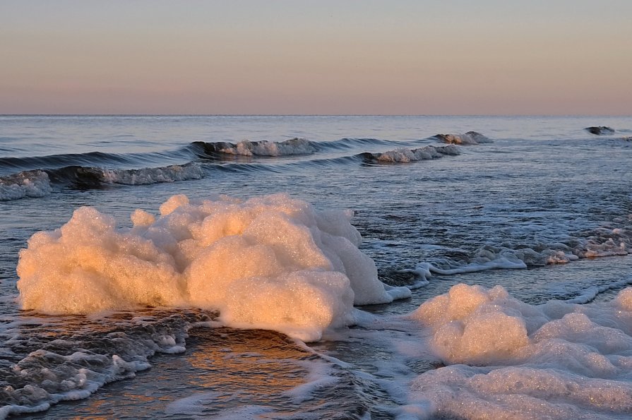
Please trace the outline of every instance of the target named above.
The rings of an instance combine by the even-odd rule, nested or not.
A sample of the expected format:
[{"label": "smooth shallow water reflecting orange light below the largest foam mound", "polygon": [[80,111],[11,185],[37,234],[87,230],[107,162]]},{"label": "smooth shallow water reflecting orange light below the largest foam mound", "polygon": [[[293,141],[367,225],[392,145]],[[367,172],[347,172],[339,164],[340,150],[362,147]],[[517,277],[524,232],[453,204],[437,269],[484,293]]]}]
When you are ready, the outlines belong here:
[{"label": "smooth shallow water reflecting orange light below the largest foam mound", "polygon": [[[157,354],[150,360],[152,368],[133,380],[110,383],[87,400],[18,418],[191,419],[249,409],[264,419],[349,419],[366,413],[368,404],[349,372],[324,364],[278,332],[193,328],[186,341],[185,354]],[[314,380],[314,368],[318,380],[327,378],[326,386],[292,392]]]}]

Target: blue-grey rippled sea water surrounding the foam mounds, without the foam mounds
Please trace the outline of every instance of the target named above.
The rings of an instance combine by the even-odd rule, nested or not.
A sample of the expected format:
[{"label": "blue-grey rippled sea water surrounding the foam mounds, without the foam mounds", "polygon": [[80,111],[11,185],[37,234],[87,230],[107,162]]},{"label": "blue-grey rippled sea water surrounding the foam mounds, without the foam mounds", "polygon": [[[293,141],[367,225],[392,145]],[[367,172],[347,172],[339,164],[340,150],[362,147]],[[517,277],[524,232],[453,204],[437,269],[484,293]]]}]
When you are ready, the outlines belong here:
[{"label": "blue-grey rippled sea water surrounding the foam mounds, without the foam mounds", "polygon": [[[584,130],[597,125],[616,131]],[[493,143],[410,161],[412,150],[446,146],[434,135],[467,131]],[[432,416],[411,383],[443,361],[429,332],[400,316],[458,283],[500,284],[530,305],[589,308],[632,283],[631,133],[625,117],[0,116],[0,368],[11,372],[37,349],[79,347],[136,363],[103,380],[126,379],[36,417]],[[307,141],[283,143],[292,138]],[[216,142],[229,144],[217,152]],[[389,151],[398,151],[395,162],[380,160]],[[213,193],[289,193],[318,210],[354,210],[360,249],[383,282],[419,284],[426,274],[429,284],[409,299],[363,307],[377,319],[326,332],[311,351],[276,332],[198,325],[202,313],[192,308],[150,310],[150,330],[132,320],[141,312],[125,322],[20,312],[18,251],[35,232],[61,227],[83,205],[131,227],[137,208],[156,214],[170,196]],[[155,328],[186,350],[165,354],[176,350]],[[125,340],[111,343],[113,329]],[[66,342],[51,347],[55,339]],[[147,360],[152,367],[138,371]],[[11,395],[1,404],[13,404]],[[47,397],[32,407],[38,401]]]}]

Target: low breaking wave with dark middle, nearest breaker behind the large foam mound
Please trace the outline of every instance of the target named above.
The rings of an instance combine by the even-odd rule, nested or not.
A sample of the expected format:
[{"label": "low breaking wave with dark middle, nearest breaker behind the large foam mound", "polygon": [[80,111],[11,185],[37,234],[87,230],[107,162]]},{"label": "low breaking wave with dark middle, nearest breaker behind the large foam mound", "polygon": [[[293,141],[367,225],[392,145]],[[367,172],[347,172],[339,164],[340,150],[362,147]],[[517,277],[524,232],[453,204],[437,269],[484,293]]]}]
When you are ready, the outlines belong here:
[{"label": "low breaking wave with dark middle, nearest breaker behind the large foam mound", "polygon": [[81,166],[37,169],[1,176],[0,200],[49,196],[54,190],[53,186],[99,188],[107,184],[147,185],[202,177],[202,169],[197,163],[144,169],[101,169]]}]

